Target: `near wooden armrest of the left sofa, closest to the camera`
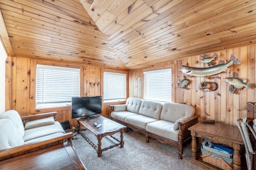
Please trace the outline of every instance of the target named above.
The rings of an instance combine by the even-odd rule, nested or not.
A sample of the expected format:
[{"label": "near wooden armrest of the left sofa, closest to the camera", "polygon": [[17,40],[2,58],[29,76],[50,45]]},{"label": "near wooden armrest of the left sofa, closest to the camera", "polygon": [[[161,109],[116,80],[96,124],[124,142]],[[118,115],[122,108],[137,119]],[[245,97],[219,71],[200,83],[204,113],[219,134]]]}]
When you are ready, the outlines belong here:
[{"label": "near wooden armrest of the left sofa, closest to the camera", "polygon": [[10,149],[4,149],[0,151],[0,161],[13,158],[22,154],[30,153],[36,150],[44,149],[53,145],[58,145],[60,143],[64,143],[66,139],[68,140],[70,145],[72,145],[72,137],[74,137],[74,134],[70,132],[70,133],[58,135],[56,137],[44,139],[41,141],[20,145]]}]

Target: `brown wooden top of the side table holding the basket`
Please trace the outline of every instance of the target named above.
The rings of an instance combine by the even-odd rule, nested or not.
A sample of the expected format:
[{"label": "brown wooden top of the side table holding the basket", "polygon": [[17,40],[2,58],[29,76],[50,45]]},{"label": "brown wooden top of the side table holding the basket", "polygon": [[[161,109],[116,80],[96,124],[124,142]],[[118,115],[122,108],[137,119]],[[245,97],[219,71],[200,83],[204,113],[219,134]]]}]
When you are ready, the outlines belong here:
[{"label": "brown wooden top of the side table holding the basket", "polygon": [[243,144],[243,139],[237,126],[226,125],[224,123],[196,123],[188,128],[196,133],[206,134],[208,136],[220,137],[229,141]]}]

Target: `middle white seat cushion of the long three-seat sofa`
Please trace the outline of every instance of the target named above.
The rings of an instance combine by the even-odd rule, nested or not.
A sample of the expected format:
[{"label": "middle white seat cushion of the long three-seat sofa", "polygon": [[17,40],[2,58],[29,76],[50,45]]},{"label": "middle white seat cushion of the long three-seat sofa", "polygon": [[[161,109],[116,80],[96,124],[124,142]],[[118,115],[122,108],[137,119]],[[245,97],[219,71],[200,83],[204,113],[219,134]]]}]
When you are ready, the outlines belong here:
[{"label": "middle white seat cushion of the long three-seat sofa", "polygon": [[125,123],[128,123],[130,125],[134,125],[136,127],[140,127],[142,129],[146,129],[146,125],[148,123],[151,123],[153,121],[157,121],[157,119],[154,119],[152,117],[147,117],[144,115],[132,115],[125,118]]}]

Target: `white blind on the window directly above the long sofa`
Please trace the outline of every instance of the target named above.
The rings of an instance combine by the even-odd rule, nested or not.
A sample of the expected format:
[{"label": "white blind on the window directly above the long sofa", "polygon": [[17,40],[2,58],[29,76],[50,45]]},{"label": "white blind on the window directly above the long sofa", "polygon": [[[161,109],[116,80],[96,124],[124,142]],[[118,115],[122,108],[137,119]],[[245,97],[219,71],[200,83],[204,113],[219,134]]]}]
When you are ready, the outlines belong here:
[{"label": "white blind on the window directly above the long sofa", "polygon": [[172,69],[144,72],[144,100],[172,101]]}]

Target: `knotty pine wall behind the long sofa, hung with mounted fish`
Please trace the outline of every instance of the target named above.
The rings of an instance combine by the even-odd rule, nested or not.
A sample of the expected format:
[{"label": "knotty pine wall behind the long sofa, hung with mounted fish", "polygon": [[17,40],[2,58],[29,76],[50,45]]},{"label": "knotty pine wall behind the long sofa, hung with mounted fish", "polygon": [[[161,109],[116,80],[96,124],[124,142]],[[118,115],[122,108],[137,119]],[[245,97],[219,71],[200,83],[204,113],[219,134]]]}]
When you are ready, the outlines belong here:
[{"label": "knotty pine wall behind the long sofa, hung with mounted fish", "polygon": [[[232,53],[235,53],[236,57],[242,63],[230,66],[229,73],[222,72],[211,76],[210,79],[206,79],[204,77],[188,76],[183,74],[182,71],[178,70],[181,68],[180,65],[188,65],[192,67],[208,67],[208,64],[200,62],[200,59],[202,59],[200,55],[187,59],[156,64],[150,67],[175,64],[175,70],[172,70],[172,74],[175,74],[176,77],[175,80],[172,80],[175,81],[172,83],[174,85],[172,88],[175,89],[174,101],[177,103],[184,103],[194,106],[196,108],[196,114],[200,115],[199,121],[200,119],[213,119],[216,122],[236,125],[236,119],[246,117],[246,103],[255,102],[255,49],[256,46],[248,46],[226,51],[216,51],[218,54],[218,57],[215,58],[216,64],[218,64],[220,59],[224,59],[226,62],[230,61],[230,55]],[[214,53],[206,55],[212,56]],[[129,71],[130,97],[143,98],[144,80],[142,77],[145,68]],[[244,88],[243,90],[239,90],[238,94],[232,94],[229,92],[230,84],[228,84],[223,78],[232,77],[233,72],[237,72],[239,78],[245,78],[247,80],[246,83],[252,83],[250,89]],[[177,83],[183,79],[183,75],[185,75],[186,78],[190,80],[190,84],[188,85],[188,88],[190,88],[189,90],[180,88],[177,85]],[[212,92],[203,92],[198,90],[198,84],[204,81],[216,82],[218,84],[218,89]]]}]

